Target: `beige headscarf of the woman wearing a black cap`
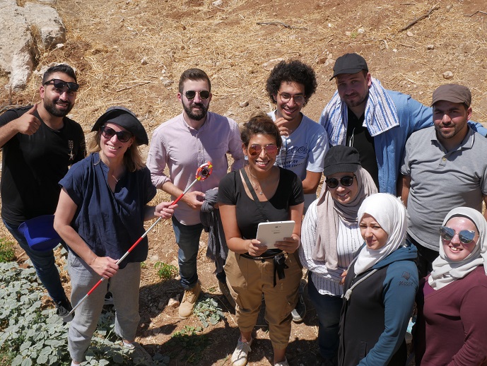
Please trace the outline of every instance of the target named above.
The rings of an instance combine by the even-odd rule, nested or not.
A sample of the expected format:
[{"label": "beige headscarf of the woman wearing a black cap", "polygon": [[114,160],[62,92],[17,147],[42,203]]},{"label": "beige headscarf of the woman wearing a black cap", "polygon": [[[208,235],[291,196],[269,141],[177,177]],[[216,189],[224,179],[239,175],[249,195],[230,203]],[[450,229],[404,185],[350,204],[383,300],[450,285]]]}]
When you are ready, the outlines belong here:
[{"label": "beige headscarf of the woman wearing a black cap", "polygon": [[357,196],[346,204],[336,202],[325,185],[317,202],[317,240],[311,257],[315,261],[324,261],[328,269],[338,269],[336,237],[340,218],[348,224],[357,223],[358,208],[370,194],[377,193],[374,180],[367,170],[358,165],[355,175],[358,183]]}]

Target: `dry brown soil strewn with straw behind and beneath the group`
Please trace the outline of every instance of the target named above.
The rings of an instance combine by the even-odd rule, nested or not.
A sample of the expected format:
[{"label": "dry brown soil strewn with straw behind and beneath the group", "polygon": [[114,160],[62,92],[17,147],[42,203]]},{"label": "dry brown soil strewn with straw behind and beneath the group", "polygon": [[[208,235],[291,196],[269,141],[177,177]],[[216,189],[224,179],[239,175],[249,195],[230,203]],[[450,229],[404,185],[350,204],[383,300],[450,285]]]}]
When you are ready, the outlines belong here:
[{"label": "dry brown soil strewn with straw behind and beneath the group", "polygon": [[[426,105],[442,83],[467,85],[473,95],[473,119],[487,122],[483,0],[223,0],[218,6],[209,0],[59,0],[54,6],[64,19],[68,40],[64,47],[40,52],[37,69],[67,61],[78,70],[81,90],[71,117],[87,134],[107,107],[124,105],[138,114],[151,136],[159,124],[180,113],[177,81],[189,67],[209,73],[211,110],[244,122],[255,110],[273,108],[264,85],[271,60],[279,58],[301,59],[315,68],[319,87],[303,112],[317,120],[335,90],[329,81],[334,59],[346,52],[362,54],[372,76],[386,88],[411,94]],[[428,12],[429,16],[401,30]],[[444,78],[446,71],[452,78]],[[7,83],[6,75],[0,74],[0,84]],[[37,74],[21,93],[10,95],[0,88],[0,106],[37,101],[39,83]],[[168,196],[158,194],[156,200],[161,199]],[[151,250],[142,271],[139,341],[150,353],[170,355],[171,365],[185,365],[196,347],[170,341],[170,336],[200,323],[195,317],[177,318],[177,307],[168,307],[168,300],[182,290],[175,280],[161,282],[154,269],[157,261],[174,264],[177,259],[170,223],[158,225],[149,240]],[[199,276],[204,291],[221,301],[225,321],[204,329],[206,345],[201,360],[194,363],[230,365],[238,336],[235,314],[225,307],[204,243],[202,237]],[[25,259],[18,256],[19,261]],[[309,301],[307,307],[303,324],[293,324],[288,348],[291,365],[318,362],[317,317]],[[262,317],[256,330],[250,365],[269,365],[271,344]]]}]

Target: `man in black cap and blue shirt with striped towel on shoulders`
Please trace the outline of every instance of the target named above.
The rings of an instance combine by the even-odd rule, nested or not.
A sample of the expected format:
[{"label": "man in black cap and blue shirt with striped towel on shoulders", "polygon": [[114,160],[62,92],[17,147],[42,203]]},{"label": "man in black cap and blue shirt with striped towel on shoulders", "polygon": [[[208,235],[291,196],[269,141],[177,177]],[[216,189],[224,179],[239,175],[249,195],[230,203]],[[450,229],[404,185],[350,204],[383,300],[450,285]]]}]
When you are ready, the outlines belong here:
[{"label": "man in black cap and blue shirt with striped towel on shoulders", "polygon": [[[336,59],[333,71],[337,91],[319,123],[327,130],[331,146],[342,144],[358,150],[360,163],[379,191],[396,194],[406,139],[413,131],[432,125],[431,108],[410,95],[383,88],[358,54]],[[487,134],[480,124],[472,128]]]}]

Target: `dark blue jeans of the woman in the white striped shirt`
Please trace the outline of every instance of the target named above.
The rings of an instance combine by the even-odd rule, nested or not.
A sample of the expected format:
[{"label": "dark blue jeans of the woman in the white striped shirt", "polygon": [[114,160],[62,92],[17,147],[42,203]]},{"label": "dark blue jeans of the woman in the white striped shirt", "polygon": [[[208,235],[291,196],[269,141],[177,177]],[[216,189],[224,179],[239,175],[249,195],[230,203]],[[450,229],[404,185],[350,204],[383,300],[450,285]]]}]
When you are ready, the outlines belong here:
[{"label": "dark blue jeans of the woman in the white striped shirt", "polygon": [[322,358],[334,358],[338,354],[340,312],[343,300],[340,296],[322,295],[308,276],[307,292],[318,315],[318,346]]}]

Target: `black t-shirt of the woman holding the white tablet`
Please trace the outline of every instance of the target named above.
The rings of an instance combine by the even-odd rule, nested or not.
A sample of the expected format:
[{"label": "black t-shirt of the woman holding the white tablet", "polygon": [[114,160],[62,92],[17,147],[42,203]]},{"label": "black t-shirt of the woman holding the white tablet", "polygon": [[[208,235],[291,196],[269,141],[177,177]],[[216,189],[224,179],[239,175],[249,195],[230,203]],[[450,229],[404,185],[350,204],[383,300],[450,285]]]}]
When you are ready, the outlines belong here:
[{"label": "black t-shirt of the woman holding the white tablet", "polygon": [[279,167],[279,183],[274,196],[269,201],[261,202],[267,218],[245,192],[240,171],[230,172],[221,179],[218,186],[218,202],[234,205],[237,225],[244,239],[255,239],[259,223],[289,220],[289,206],[296,206],[305,201],[303,184],[291,170]]}]

